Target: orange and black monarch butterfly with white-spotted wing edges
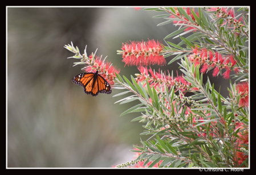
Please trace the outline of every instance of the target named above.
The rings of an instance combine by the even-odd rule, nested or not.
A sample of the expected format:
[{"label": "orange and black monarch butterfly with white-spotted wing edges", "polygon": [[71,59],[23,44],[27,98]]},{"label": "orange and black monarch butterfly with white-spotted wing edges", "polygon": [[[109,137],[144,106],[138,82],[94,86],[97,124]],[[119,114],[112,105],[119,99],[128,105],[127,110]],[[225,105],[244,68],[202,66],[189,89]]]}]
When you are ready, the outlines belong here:
[{"label": "orange and black monarch butterfly with white-spotted wing edges", "polygon": [[112,89],[107,81],[98,74],[95,73],[81,73],[72,79],[74,84],[84,87],[84,93],[91,94],[96,97],[99,93],[111,94]]}]

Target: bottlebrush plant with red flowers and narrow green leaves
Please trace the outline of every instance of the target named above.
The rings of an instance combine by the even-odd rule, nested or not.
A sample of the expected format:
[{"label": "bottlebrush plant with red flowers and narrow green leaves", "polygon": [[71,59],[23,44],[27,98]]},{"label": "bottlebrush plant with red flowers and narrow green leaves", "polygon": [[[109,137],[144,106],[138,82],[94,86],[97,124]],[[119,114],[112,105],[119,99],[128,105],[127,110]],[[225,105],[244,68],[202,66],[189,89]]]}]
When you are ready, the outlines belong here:
[{"label": "bottlebrush plant with red flowers and narrow green leaves", "polygon": [[[197,10],[196,10],[197,9]],[[80,55],[79,49],[66,45],[74,52],[72,58],[82,59],[75,65],[86,64],[86,72],[98,70],[113,89],[127,89],[113,97],[132,92],[121,103],[139,99],[140,104],[124,111],[142,115],[132,121],[145,123],[141,135],[149,135],[141,145],[134,145],[137,156],[122,167],[159,168],[238,168],[249,167],[249,8],[235,15],[233,7],[160,7],[147,8],[162,12],[153,18],[164,18],[162,26],[173,23],[178,30],[156,40],[130,41],[120,45],[117,54],[128,66],[138,66],[140,74],[121,77],[120,70],[92,53]],[[183,38],[184,34],[191,34]],[[180,37],[173,44],[166,39]],[[182,45],[186,45],[182,47]],[[183,74],[152,70],[150,65],[166,65],[166,57],[177,55],[168,64],[180,60]],[[234,78],[223,97],[209,78],[212,72],[226,81]],[[234,72],[234,74],[231,74]],[[240,81],[240,82],[239,82]],[[194,95],[188,96],[186,92]]]}]

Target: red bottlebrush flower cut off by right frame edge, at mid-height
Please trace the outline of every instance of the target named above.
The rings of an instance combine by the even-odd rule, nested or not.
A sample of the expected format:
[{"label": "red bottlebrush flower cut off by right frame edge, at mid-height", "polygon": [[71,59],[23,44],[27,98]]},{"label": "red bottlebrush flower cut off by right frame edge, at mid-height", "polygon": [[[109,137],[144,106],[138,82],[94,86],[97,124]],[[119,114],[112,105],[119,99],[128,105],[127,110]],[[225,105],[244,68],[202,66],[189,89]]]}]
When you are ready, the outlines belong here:
[{"label": "red bottlebrush flower cut off by right frame edge, at mid-height", "polygon": [[238,90],[238,93],[241,94],[239,100],[239,107],[244,107],[249,105],[249,84],[248,82],[242,82],[237,84],[235,89]]}]

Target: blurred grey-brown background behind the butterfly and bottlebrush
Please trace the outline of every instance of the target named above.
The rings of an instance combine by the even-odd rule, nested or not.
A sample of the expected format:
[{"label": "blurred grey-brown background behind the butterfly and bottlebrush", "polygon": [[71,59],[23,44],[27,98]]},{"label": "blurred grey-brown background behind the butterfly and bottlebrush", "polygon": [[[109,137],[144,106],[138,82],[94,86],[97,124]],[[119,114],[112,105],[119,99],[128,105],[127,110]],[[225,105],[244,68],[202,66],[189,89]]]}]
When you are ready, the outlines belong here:
[{"label": "blurred grey-brown background behind the butterfly and bottlebrush", "polygon": [[[107,57],[130,77],[139,70],[125,66],[116,50],[129,40],[160,40],[178,27],[155,19],[156,11],[132,7],[8,7],[7,8],[7,167],[112,167],[131,161],[132,145],[140,145],[144,125],[131,120],[140,113],[120,117],[138,102],[114,104],[124,90],[97,97],[84,94],[71,82],[83,71],[72,66],[74,54],[65,44],[78,46],[88,55]],[[190,35],[190,34],[188,34]],[[188,36],[188,35],[185,35]],[[171,39],[179,43],[180,39]],[[174,56],[166,58],[169,62]],[[159,69],[159,66],[152,66]],[[178,69],[177,61],[161,67]],[[178,70],[178,73],[181,72]],[[205,74],[212,78],[211,74]],[[216,90],[226,97],[229,81],[213,78]]]}]

